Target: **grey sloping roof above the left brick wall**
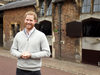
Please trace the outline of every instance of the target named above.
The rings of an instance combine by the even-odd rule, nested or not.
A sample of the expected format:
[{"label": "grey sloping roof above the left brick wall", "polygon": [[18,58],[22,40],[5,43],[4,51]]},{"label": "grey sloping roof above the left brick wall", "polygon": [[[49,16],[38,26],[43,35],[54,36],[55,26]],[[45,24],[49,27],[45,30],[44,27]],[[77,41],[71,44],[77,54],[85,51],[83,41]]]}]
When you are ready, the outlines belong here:
[{"label": "grey sloping roof above the left brick wall", "polygon": [[8,3],[6,5],[0,6],[0,11],[24,7],[24,6],[30,6],[30,5],[35,5],[35,4],[36,4],[36,0],[18,0],[15,2]]}]

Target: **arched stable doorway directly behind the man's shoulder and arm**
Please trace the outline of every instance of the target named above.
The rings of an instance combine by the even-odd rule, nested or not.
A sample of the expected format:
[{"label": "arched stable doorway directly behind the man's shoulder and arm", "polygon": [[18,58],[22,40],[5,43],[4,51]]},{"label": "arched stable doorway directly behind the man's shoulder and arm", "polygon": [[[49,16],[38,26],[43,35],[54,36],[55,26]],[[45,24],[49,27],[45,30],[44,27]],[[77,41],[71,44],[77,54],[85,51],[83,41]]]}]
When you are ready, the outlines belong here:
[{"label": "arched stable doorway directly behind the man's shoulder and arm", "polygon": [[39,24],[36,24],[35,27],[46,35],[51,51],[50,57],[52,57],[52,23],[50,21],[43,20]]}]

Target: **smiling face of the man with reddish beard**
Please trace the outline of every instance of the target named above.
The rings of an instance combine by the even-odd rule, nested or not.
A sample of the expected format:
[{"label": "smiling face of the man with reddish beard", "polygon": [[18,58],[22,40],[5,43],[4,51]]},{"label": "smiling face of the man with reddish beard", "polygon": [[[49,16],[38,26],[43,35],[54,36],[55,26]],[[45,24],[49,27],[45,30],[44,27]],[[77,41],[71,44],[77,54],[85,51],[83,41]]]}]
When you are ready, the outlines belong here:
[{"label": "smiling face of the man with reddish beard", "polygon": [[27,30],[32,30],[32,28],[34,27],[36,21],[34,20],[34,16],[33,15],[27,15],[25,18],[25,26]]}]

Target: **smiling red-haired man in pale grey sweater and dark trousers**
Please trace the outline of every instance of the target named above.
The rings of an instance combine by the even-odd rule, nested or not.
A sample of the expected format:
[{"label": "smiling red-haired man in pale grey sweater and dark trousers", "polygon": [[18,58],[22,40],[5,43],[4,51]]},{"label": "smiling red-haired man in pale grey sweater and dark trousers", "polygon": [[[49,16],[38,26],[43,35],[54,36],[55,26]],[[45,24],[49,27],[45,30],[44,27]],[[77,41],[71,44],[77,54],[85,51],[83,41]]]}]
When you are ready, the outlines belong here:
[{"label": "smiling red-haired man in pale grey sweater and dark trousers", "polygon": [[25,29],[14,38],[11,54],[18,58],[16,75],[41,75],[41,58],[50,56],[45,34],[34,27],[36,20],[34,12],[27,12]]}]

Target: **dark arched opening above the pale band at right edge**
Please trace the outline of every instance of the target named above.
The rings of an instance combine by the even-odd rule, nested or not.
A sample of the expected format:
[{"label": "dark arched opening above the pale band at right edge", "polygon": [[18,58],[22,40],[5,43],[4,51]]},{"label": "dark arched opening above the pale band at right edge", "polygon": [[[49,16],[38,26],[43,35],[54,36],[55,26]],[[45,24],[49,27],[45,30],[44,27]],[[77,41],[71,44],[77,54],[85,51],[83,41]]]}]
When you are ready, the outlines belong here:
[{"label": "dark arched opening above the pale band at right edge", "polygon": [[100,37],[100,20],[86,19],[82,22],[83,37]]}]

